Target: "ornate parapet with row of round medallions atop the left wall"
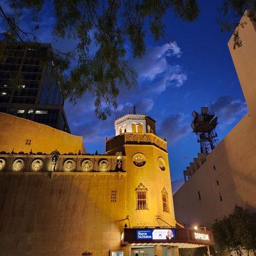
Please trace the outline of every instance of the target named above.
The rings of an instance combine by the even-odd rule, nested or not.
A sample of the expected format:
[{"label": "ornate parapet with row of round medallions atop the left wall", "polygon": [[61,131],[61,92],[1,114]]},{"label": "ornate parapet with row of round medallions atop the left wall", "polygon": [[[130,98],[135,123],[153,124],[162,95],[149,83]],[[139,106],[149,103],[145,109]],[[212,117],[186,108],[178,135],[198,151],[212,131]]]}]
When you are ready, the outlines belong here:
[{"label": "ornate parapet with row of round medallions atop the left wall", "polygon": [[0,154],[0,172],[125,172],[125,156]]}]

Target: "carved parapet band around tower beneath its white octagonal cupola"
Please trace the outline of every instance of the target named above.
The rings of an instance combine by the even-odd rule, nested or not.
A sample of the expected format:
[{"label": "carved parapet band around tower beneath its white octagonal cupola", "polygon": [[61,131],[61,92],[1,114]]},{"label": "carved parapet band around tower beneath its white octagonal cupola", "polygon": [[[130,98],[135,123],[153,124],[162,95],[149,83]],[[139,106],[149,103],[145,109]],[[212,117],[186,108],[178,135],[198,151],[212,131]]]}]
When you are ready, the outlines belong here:
[{"label": "carved parapet band around tower beneath its white octagonal cupola", "polygon": [[152,144],[167,151],[167,143],[152,133],[125,132],[106,141],[106,151],[121,147],[124,144]]}]

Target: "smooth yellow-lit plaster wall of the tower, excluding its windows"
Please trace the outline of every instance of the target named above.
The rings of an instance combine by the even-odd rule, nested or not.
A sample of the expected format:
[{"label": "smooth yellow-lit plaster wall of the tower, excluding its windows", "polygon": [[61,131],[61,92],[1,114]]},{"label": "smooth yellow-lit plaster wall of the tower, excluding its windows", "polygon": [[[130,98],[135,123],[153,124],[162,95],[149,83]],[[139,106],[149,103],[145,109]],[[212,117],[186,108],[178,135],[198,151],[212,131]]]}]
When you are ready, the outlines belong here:
[{"label": "smooth yellow-lit plaster wall of the tower, excluding its windows", "polygon": [[[132,163],[132,156],[136,153],[145,155],[147,162],[144,166],[137,167]],[[126,209],[127,214],[131,216],[131,227],[166,225],[163,221],[157,220],[156,215],[175,226],[168,154],[152,145],[125,145],[125,155],[127,159]],[[162,157],[166,163],[164,172],[158,166],[158,157]],[[135,189],[141,182],[148,189],[148,210],[136,210]],[[163,188],[168,192],[170,212],[163,212],[161,194]]]}]

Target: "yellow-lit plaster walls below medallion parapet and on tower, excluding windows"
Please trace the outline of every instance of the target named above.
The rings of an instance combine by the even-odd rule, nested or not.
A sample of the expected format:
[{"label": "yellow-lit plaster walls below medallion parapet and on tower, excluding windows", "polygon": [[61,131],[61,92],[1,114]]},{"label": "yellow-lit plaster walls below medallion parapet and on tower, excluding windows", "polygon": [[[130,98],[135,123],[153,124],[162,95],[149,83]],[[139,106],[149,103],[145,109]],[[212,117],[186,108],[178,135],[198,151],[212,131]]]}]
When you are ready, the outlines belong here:
[{"label": "yellow-lit plaster walls below medallion parapet and on tower, excluding windows", "polygon": [[[0,172],[0,256],[108,256],[129,227],[175,226],[168,154],[154,145],[124,145],[126,173]],[[132,156],[147,158],[143,167]],[[163,157],[166,170],[160,170]],[[136,209],[136,188],[148,189],[148,209]],[[162,189],[170,212],[163,212]],[[118,191],[111,203],[111,189]],[[126,216],[129,220],[125,220]],[[166,223],[156,219],[159,215]]]}]

